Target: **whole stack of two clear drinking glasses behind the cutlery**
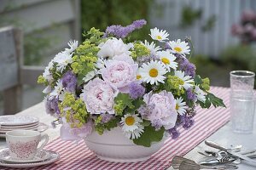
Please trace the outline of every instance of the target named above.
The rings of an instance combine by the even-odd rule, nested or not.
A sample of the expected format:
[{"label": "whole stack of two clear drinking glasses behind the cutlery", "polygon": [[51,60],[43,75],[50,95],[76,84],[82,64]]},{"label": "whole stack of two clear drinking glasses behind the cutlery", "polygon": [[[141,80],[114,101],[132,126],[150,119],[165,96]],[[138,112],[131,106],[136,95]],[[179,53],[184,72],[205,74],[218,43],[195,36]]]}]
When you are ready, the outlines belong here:
[{"label": "whole stack of two clear drinking glasses behind the cutlery", "polygon": [[252,133],[255,112],[253,71],[230,72],[230,114],[232,130],[236,133]]}]

